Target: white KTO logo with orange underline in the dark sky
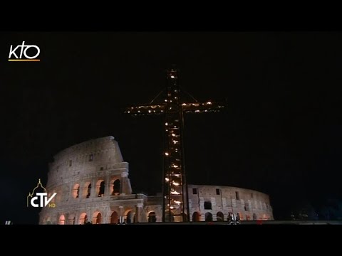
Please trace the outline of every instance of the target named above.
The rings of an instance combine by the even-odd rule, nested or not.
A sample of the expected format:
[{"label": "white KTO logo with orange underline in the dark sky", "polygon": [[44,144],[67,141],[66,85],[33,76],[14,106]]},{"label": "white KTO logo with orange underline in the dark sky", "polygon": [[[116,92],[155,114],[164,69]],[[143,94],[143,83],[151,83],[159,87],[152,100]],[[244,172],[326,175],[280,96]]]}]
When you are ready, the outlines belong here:
[{"label": "white KTO logo with orange underline in the dark sky", "polygon": [[[32,48],[32,50],[28,50],[30,48]],[[20,49],[20,53],[17,52],[18,49]],[[27,50],[29,51],[29,53],[27,52]],[[39,49],[38,46],[25,45],[25,41],[23,41],[23,44],[16,46],[16,48],[11,45],[11,48],[9,48],[9,61],[41,61],[39,59],[36,59],[39,53],[41,53],[41,49]],[[17,54],[19,54],[19,57]],[[25,58],[22,58],[23,54]]]}]

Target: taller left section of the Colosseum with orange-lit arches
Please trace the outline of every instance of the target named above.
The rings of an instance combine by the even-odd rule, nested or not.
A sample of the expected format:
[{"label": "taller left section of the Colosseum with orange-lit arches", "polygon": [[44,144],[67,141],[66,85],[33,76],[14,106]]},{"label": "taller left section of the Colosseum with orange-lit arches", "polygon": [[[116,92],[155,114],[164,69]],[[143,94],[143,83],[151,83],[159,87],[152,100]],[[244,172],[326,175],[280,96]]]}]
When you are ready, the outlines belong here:
[{"label": "taller left section of the Colosseum with orange-lit arches", "polygon": [[[138,205],[142,208],[147,200],[132,194],[128,163],[113,137],[92,139],[56,154],[49,165],[46,190],[48,196],[57,193],[51,202],[56,207],[41,210],[40,224],[82,224],[85,215],[93,223],[115,223],[127,215],[134,220]],[[142,211],[139,215],[146,220]],[[112,219],[113,213],[117,217]]]}]

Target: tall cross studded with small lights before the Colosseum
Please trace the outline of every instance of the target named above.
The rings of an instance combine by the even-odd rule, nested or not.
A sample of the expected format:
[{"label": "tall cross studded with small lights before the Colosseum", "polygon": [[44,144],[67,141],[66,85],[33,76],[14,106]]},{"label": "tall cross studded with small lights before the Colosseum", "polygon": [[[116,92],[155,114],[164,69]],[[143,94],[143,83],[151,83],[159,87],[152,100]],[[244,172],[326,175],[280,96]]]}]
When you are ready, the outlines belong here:
[{"label": "tall cross studded with small lights before the Colosseum", "polygon": [[137,115],[164,114],[162,222],[190,221],[189,198],[185,176],[183,132],[184,113],[217,112],[224,107],[218,102],[182,102],[177,69],[167,70],[164,102],[127,107],[125,113]]}]

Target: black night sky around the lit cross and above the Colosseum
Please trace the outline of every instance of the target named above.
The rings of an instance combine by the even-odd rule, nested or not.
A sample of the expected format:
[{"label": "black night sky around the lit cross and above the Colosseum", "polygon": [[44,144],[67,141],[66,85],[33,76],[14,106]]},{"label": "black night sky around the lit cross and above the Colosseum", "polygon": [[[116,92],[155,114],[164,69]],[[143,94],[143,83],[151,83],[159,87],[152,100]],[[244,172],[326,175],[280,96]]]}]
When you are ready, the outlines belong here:
[{"label": "black night sky around the lit cross and above the Colosseum", "polygon": [[[10,63],[22,41],[41,62]],[[165,69],[221,113],[185,117],[189,183],[268,193],[277,219],[299,201],[342,198],[342,35],[333,32],[0,33],[1,224],[38,223],[26,196],[54,154],[112,135],[134,192],[161,190],[162,117],[150,102]]]}]

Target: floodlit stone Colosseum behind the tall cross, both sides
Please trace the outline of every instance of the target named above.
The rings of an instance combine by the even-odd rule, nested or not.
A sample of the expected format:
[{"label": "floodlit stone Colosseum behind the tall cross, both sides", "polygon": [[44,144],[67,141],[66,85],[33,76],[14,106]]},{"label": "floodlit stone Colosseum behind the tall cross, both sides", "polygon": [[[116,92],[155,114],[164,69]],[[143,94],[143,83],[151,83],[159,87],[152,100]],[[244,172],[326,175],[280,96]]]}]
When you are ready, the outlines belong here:
[{"label": "floodlit stone Colosseum behind the tall cross, both sides", "polygon": [[[39,224],[116,224],[162,221],[162,196],[133,193],[128,163],[114,137],[91,139],[65,149],[49,164],[48,196]],[[229,186],[188,184],[190,221],[273,220],[269,196]]]}]

